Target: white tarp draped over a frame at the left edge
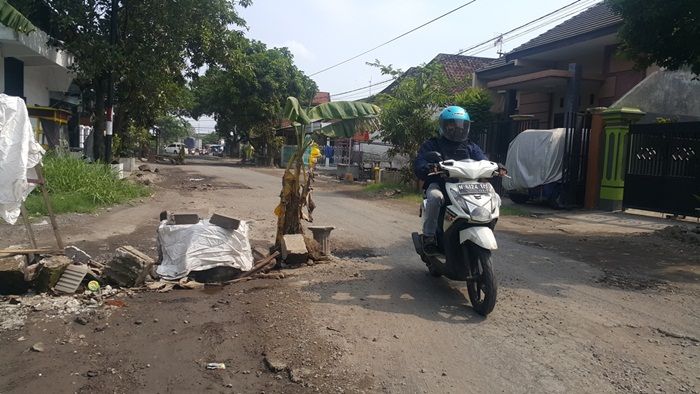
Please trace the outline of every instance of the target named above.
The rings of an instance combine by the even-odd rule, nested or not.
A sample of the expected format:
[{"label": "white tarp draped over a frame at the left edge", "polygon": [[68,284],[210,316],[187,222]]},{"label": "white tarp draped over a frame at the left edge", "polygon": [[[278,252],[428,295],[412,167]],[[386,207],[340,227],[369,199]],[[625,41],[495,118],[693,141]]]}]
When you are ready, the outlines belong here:
[{"label": "white tarp draped over a frame at the left edge", "polygon": [[36,178],[34,166],[43,154],[24,100],[0,94],[0,218],[6,222],[17,221],[22,202],[34,189],[27,177]]}]

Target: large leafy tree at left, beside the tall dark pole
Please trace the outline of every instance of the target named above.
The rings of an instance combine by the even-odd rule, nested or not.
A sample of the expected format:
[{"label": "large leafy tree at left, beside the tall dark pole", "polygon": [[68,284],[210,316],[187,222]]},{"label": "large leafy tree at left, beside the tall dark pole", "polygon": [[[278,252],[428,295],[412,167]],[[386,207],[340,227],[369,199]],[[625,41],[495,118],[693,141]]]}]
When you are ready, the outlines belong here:
[{"label": "large leafy tree at left, beside the tall dark pole", "polygon": [[[112,0],[24,0],[30,20],[49,33],[54,45],[75,57],[74,71],[91,92],[96,137],[102,135],[107,80],[117,90],[115,132],[150,127],[182,110],[185,89],[205,64],[222,60],[245,26],[236,6],[250,0],[121,0],[118,42],[110,44]],[[97,157],[102,144],[97,141]]]}]

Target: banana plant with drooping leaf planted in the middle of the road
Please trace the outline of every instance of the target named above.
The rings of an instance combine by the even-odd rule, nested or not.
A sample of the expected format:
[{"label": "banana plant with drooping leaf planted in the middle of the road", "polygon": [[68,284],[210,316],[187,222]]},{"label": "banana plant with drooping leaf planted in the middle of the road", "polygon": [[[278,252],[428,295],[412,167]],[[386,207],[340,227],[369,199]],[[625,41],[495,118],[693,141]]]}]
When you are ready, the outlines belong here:
[{"label": "banana plant with drooping leaf planted in the middle of the road", "polygon": [[[308,110],[299,105],[295,97],[288,97],[283,116],[292,122],[296,135],[297,149],[287,163],[282,176],[280,203],[275,208],[277,215],[276,245],[280,246],[285,234],[303,234],[301,220],[312,221],[315,204],[311,196],[313,182],[313,164],[304,165],[304,152],[313,140],[307,138],[307,126],[322,122],[322,127],[313,133],[328,137],[352,137],[358,131],[377,130],[379,128],[379,107],[373,104],[355,101],[336,101],[323,103]],[[304,207],[307,212],[304,212]]]}]

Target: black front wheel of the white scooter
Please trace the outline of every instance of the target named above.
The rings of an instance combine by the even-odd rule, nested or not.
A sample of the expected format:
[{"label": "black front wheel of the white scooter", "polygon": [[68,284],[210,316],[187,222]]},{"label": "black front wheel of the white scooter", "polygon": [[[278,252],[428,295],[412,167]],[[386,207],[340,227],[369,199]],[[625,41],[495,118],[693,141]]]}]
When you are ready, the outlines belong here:
[{"label": "black front wheel of the white scooter", "polygon": [[464,256],[469,258],[471,279],[467,280],[469,301],[476,313],[487,316],[496,306],[498,285],[491,267],[491,251],[466,242],[462,245]]}]

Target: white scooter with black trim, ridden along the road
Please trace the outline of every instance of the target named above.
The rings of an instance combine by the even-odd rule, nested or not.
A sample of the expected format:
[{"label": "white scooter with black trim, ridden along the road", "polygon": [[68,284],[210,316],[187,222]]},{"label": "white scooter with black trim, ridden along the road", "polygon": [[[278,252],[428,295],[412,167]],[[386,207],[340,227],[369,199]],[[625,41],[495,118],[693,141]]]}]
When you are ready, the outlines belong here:
[{"label": "white scooter with black trim, ridden along the road", "polygon": [[[431,152],[433,153],[433,152]],[[488,160],[439,161],[431,176],[445,178],[445,207],[441,211],[436,234],[439,255],[427,255],[422,237],[413,233],[416,253],[428,266],[432,276],[444,275],[467,282],[469,300],[474,310],[486,316],[496,306],[496,278],[491,267],[491,251],[496,250],[493,229],[499,216],[501,198],[488,182],[480,179],[499,175],[501,167]],[[426,207],[423,200],[420,216]]]}]

